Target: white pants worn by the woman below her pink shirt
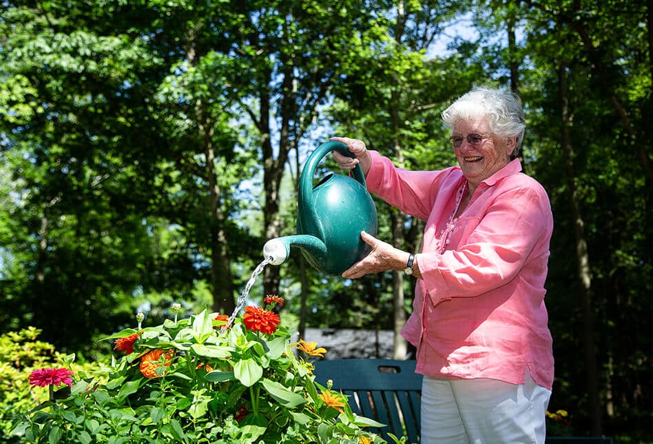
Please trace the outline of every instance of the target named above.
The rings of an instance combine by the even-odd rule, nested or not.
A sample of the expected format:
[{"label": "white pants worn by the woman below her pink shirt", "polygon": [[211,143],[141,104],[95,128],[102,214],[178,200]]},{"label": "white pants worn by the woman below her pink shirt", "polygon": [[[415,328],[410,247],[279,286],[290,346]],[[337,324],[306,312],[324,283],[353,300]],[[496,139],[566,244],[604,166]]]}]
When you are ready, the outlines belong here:
[{"label": "white pants worn by the woman below her pink shirt", "polygon": [[494,379],[422,383],[422,444],[543,444],[551,391]]}]

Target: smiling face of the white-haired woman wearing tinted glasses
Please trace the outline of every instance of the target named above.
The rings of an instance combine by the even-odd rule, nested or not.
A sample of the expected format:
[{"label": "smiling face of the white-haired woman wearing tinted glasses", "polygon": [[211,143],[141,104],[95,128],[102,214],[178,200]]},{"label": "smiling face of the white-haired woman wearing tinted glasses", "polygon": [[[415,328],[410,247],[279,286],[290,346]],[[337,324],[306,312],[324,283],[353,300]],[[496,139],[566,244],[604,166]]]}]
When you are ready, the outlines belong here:
[{"label": "smiling face of the white-haired woman wearing tinted glasses", "polygon": [[[508,139],[506,142],[506,139],[496,137],[489,132],[488,123],[482,117],[457,121],[453,127],[452,137],[455,142],[456,158],[465,178],[473,188],[504,168],[510,161],[510,153],[514,148],[513,139]],[[472,143],[468,140],[469,134],[472,134],[470,137]],[[475,144],[474,142],[477,141],[480,142]],[[460,143],[458,147],[455,146],[457,142]],[[508,147],[508,143],[512,148]]]}]

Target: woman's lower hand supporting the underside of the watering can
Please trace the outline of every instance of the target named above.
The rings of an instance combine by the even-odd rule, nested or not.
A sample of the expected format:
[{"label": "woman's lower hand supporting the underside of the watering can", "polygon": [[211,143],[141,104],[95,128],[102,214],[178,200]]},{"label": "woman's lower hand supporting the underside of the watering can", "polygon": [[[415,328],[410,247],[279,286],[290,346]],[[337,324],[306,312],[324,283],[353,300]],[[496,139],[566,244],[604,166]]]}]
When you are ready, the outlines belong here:
[{"label": "woman's lower hand supporting the underside of the watering can", "polygon": [[408,253],[394,248],[389,243],[376,239],[366,232],[360,233],[360,238],[369,246],[372,251],[363,259],[344,270],[342,277],[357,279],[366,274],[380,273],[387,270],[402,270],[406,263]]}]

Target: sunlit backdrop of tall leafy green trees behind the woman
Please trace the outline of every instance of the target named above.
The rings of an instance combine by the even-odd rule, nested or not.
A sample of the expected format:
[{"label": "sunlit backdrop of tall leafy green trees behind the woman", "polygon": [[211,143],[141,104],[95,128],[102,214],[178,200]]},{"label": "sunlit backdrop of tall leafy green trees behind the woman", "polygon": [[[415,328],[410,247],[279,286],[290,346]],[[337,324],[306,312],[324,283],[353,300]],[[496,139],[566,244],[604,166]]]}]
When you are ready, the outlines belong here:
[{"label": "sunlit backdrop of tall leafy green trees behind the woman", "polygon": [[[233,307],[296,181],[333,134],[406,168],[453,163],[439,121],[474,84],[517,90],[522,160],[555,218],[550,410],[573,433],[650,442],[653,12],[623,1],[0,3],[0,332],[81,359],[136,310]],[[325,168],[332,168],[329,160]],[[419,221],[378,203],[380,236]],[[396,328],[411,281],[265,287],[305,327]],[[401,308],[404,310],[401,310]],[[398,317],[397,317],[398,316]],[[104,347],[104,348],[102,348]],[[582,350],[581,353],[578,350]]]}]

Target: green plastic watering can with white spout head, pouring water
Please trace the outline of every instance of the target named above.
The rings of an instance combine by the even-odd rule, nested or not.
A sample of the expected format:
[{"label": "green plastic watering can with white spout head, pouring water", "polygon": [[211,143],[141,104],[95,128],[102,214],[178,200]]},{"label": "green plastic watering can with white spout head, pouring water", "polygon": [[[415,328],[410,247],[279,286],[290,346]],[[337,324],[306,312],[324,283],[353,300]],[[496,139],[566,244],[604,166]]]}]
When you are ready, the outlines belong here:
[{"label": "green plastic watering can with white spout head, pouring water", "polygon": [[300,177],[297,234],[270,239],[263,245],[263,256],[272,265],[288,259],[293,246],[302,250],[315,270],[342,274],[371,251],[360,239],[360,232],[376,236],[377,214],[360,165],[354,168],[353,178],[329,174],[313,188],[315,168],[333,150],[353,157],[344,143],[336,141],[323,143],[313,151]]}]

